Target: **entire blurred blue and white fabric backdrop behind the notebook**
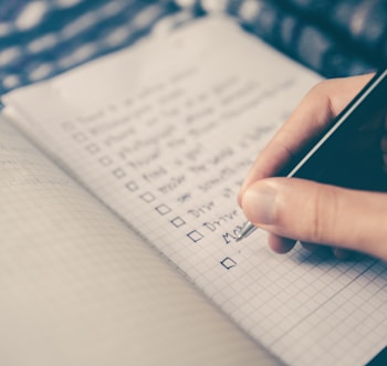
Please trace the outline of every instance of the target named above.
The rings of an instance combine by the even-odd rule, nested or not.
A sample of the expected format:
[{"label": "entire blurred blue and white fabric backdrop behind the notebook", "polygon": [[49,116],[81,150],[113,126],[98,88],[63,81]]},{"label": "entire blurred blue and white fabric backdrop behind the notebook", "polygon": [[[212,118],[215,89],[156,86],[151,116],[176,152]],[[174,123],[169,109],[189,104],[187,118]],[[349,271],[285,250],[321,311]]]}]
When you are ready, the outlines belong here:
[{"label": "entire blurred blue and white fabric backdrop behind the notebook", "polygon": [[213,12],[325,77],[387,64],[387,0],[2,0],[0,95]]}]

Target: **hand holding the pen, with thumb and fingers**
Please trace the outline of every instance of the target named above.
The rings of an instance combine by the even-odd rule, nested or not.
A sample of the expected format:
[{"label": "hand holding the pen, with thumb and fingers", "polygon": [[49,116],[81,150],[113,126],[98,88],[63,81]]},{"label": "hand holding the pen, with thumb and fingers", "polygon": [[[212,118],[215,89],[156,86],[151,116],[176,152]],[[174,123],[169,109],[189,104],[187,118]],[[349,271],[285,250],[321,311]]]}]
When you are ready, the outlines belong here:
[{"label": "hand holding the pen, with thumb and fingers", "polygon": [[273,177],[372,76],[317,84],[253,164],[238,200],[247,218],[269,231],[269,244],[275,252],[287,252],[300,240],[306,248],[330,245],[338,258],[355,250],[387,260],[386,116],[366,121],[358,138],[343,146],[341,154],[356,168],[348,182],[356,181],[357,187]]}]

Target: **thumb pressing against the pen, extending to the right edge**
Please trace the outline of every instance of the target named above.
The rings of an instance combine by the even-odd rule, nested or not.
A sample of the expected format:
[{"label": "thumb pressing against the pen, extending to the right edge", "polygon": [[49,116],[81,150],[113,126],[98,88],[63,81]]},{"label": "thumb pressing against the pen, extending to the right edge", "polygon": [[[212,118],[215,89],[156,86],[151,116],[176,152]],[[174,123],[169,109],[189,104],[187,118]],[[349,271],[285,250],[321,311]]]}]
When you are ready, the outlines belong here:
[{"label": "thumb pressing against the pen, extending to the right edge", "polygon": [[387,194],[296,178],[265,178],[242,197],[247,218],[276,236],[387,260]]}]

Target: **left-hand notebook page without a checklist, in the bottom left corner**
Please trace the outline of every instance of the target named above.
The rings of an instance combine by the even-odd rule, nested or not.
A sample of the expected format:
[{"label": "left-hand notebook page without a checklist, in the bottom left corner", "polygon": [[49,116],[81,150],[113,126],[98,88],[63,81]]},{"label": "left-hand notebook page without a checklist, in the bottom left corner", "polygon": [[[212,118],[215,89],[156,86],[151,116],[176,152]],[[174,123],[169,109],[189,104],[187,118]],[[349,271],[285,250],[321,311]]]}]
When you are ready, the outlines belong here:
[{"label": "left-hand notebook page without a checklist, in the bottom left corner", "polygon": [[0,117],[0,364],[279,365]]}]

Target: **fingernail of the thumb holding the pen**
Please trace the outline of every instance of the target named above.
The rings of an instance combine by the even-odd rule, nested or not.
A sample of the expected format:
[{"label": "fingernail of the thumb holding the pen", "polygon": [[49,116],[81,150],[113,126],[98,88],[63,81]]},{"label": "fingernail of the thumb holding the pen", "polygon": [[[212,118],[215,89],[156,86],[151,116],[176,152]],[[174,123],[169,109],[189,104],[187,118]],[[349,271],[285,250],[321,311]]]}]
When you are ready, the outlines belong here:
[{"label": "fingernail of the thumb holding the pen", "polygon": [[253,223],[274,223],[276,189],[268,184],[258,184],[249,188],[242,200],[245,216]]}]

